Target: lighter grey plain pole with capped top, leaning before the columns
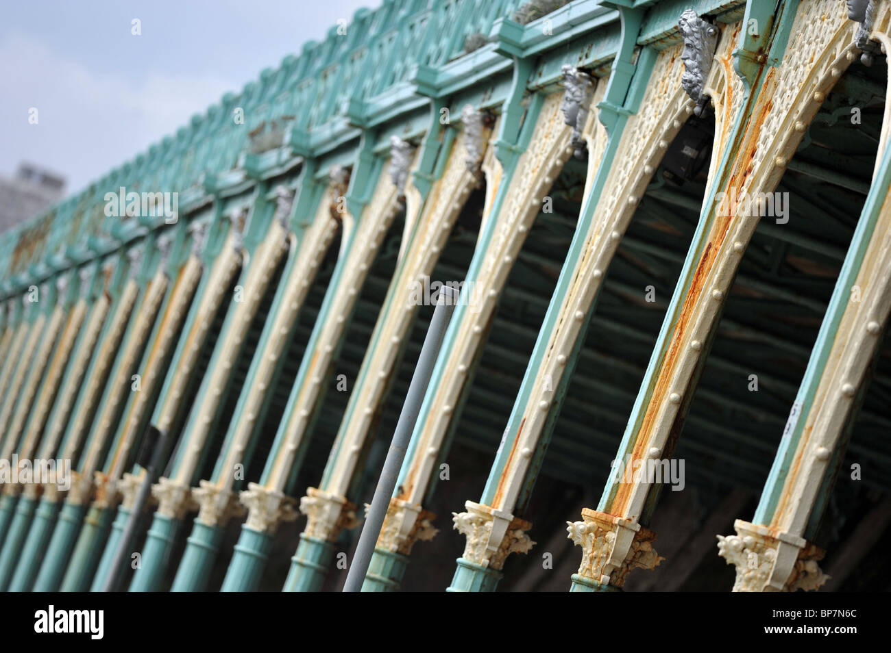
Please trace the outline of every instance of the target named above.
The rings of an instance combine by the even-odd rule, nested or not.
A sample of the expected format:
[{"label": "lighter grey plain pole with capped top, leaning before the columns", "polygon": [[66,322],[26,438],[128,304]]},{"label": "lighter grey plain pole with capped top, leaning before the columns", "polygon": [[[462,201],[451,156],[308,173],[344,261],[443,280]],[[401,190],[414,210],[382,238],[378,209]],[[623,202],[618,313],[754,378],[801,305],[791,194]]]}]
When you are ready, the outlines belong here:
[{"label": "lighter grey plain pole with capped top, leaning before the columns", "polygon": [[437,362],[439,348],[446,336],[446,328],[452,318],[455,304],[458,303],[457,299],[458,291],[452,286],[442,286],[439,289],[437,308],[433,311],[433,319],[430,320],[430,327],[421,347],[421,356],[418,357],[418,364],[414,367],[412,383],[408,386],[405,404],[403,404],[402,413],[399,414],[399,422],[396,423],[396,431],[390,442],[387,459],[380,472],[378,487],[374,490],[374,498],[372,498],[368,516],[362,527],[362,535],[359,536],[359,544],[356,545],[356,554],[349,566],[347,582],[343,585],[344,592],[362,591],[365,574],[372,562],[374,546],[378,543],[380,528],[384,525],[384,518],[387,517],[389,500],[393,496],[396,480],[399,478],[399,470],[402,469],[402,463],[405,460],[405,451],[412,439],[414,423],[418,421],[421,403],[430,383],[430,375],[433,374],[433,366]]}]

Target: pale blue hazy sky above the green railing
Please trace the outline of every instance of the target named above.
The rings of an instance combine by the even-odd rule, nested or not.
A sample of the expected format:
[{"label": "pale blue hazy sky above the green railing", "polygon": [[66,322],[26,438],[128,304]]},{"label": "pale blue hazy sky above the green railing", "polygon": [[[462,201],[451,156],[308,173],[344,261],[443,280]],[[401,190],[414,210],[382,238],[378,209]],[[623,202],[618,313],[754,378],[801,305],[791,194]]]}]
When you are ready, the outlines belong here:
[{"label": "pale blue hazy sky above the green railing", "polygon": [[260,70],[322,40],[339,19],[351,22],[360,7],[380,4],[4,0],[0,175],[29,161],[66,177],[66,195],[77,192]]}]

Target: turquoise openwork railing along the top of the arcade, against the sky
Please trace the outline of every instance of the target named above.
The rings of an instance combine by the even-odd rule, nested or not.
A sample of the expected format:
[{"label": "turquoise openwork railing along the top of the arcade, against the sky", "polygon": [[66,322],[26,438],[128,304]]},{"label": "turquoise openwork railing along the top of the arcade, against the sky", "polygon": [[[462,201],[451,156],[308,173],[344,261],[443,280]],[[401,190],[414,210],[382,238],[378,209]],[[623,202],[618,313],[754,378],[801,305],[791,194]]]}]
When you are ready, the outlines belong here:
[{"label": "turquoise openwork railing along the top of the arcade, against the sky", "polygon": [[[406,85],[413,67],[467,60],[476,53],[462,54],[459,46],[470,30],[488,34],[495,20],[510,15],[517,5],[519,0],[446,0],[429,7],[417,0],[403,0],[385,4],[374,12],[359,10],[346,34],[331,28],[322,43],[306,44],[300,56],[287,57],[277,70],[264,70],[260,79],[247,85],[242,93],[227,93],[219,104],[203,116],[192,117],[190,124],[174,136],[113,169],[76,198],[53,207],[45,214],[52,218],[53,227],[60,228],[53,242],[72,240],[68,224],[82,226],[81,234],[102,230],[102,221],[94,216],[101,208],[106,189],[125,186],[168,190],[169,185],[170,191],[184,191],[202,172],[219,173],[231,168],[247,149],[249,131],[266,121],[287,116],[296,116],[299,121],[306,117],[303,129],[309,131],[308,141],[313,148],[327,151],[358,137],[359,131],[349,126],[357,118],[356,110],[350,107],[362,107],[360,122],[372,126],[401,117],[405,111],[421,109],[425,104],[423,97],[413,93],[412,83]],[[591,28],[584,27],[584,17],[599,11],[602,10],[591,0],[561,8],[550,17],[557,27],[554,35],[544,40],[535,36],[535,25],[527,26],[524,34],[535,36],[536,42],[529,43],[532,49],[527,53],[544,52],[566,43],[579,30]],[[462,20],[454,20],[458,15]],[[455,71],[463,75],[461,65]],[[510,62],[495,65],[503,67]],[[465,87],[478,81],[463,77]],[[244,111],[244,125],[234,124],[232,112],[236,108]],[[252,175],[262,177],[264,171],[289,165],[292,154],[282,149],[266,157],[246,155],[242,160]],[[73,219],[62,220],[53,213],[57,208],[63,208]],[[36,222],[23,225],[0,241],[20,241],[33,223]],[[129,234],[123,235],[129,238]],[[0,252],[11,251],[11,246],[0,247]],[[8,267],[4,260],[8,258],[0,259],[0,270]]]}]

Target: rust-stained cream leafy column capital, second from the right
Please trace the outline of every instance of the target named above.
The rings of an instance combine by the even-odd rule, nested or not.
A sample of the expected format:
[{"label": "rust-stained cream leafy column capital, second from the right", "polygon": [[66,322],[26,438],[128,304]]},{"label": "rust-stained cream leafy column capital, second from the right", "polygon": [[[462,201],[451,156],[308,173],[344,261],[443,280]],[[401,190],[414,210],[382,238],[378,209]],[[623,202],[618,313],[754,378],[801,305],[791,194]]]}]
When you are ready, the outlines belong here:
[{"label": "rust-stained cream leafy column capital, second from the right", "polygon": [[634,520],[584,508],[582,521],[566,523],[569,539],[582,547],[578,575],[601,585],[622,587],[632,569],[652,569],[665,560],[653,549],[656,534]]}]

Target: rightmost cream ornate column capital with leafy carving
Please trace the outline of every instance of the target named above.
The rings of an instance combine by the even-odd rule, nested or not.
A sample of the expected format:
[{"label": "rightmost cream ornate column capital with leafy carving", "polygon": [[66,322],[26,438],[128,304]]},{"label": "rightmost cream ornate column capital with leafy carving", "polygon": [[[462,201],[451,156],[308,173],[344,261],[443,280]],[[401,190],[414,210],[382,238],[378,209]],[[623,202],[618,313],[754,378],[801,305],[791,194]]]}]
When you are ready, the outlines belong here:
[{"label": "rightmost cream ornate column capital with leafy carving", "polygon": [[804,538],[743,520],[733,528],[736,535],[718,536],[718,555],[736,566],[733,592],[809,591],[829,580],[817,564],[825,552]]}]

